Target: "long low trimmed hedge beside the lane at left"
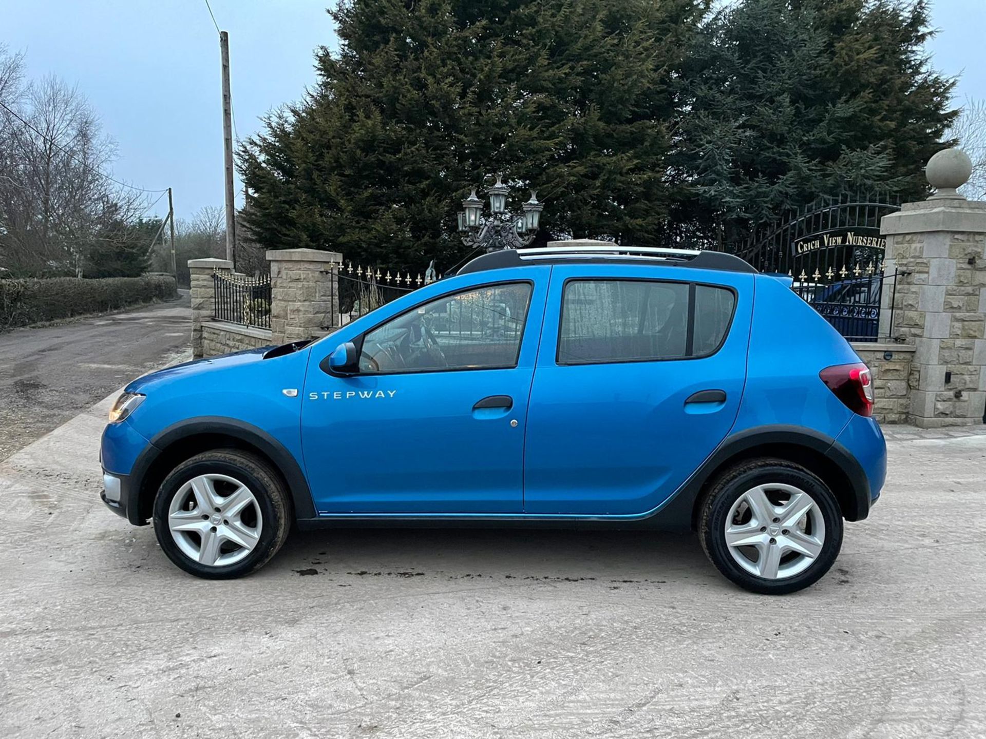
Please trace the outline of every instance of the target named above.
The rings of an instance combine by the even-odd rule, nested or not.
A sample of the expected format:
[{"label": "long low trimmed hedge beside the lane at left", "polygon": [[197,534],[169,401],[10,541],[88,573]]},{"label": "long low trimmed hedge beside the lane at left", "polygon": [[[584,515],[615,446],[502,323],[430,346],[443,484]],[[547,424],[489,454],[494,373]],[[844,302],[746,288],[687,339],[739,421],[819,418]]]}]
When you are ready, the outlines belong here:
[{"label": "long low trimmed hedge beside the lane at left", "polygon": [[176,297],[171,275],[0,280],[0,330]]}]

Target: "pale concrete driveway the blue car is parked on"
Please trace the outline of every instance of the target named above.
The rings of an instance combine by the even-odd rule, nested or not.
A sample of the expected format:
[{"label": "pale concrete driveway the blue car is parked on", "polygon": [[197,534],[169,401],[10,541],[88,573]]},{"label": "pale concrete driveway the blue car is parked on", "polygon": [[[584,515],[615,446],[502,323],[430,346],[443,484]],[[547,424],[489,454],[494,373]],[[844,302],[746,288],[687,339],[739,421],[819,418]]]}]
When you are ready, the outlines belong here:
[{"label": "pale concrete driveway the blue car is parked on", "polygon": [[99,503],[108,402],[0,464],[0,736],[986,735],[986,436],[895,432],[792,596],[620,532],[296,533],[211,582]]}]

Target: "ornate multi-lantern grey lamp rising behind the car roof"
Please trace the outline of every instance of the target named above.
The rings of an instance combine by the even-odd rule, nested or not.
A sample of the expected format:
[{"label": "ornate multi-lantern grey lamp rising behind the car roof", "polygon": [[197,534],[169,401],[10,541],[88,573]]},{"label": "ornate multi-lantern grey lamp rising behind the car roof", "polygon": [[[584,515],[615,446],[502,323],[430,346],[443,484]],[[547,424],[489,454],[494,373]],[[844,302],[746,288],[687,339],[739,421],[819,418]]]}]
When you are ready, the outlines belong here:
[{"label": "ornate multi-lantern grey lamp rising behind the car roof", "polygon": [[483,201],[472,190],[462,201],[462,210],[458,214],[462,243],[498,251],[527,246],[534,239],[544,206],[537,202],[537,193],[531,190],[530,200],[521,206],[522,212],[511,213],[507,210],[509,192],[510,188],[497,175],[496,184],[486,191],[490,198],[490,215],[483,217]]}]

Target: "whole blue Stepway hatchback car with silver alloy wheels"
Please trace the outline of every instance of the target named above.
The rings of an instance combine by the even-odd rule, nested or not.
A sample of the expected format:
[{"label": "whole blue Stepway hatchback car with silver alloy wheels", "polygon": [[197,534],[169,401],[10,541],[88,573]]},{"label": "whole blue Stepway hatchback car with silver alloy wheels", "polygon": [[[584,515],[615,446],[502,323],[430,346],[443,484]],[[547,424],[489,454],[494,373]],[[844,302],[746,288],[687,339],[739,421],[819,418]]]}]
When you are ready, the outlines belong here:
[{"label": "whole blue Stepway hatchback car with silver alloy wheels", "polygon": [[294,523],[638,526],[786,593],[880,495],[872,414],[849,344],[737,257],[507,250],[318,341],[134,380],[103,500],[202,577],[256,570]]}]

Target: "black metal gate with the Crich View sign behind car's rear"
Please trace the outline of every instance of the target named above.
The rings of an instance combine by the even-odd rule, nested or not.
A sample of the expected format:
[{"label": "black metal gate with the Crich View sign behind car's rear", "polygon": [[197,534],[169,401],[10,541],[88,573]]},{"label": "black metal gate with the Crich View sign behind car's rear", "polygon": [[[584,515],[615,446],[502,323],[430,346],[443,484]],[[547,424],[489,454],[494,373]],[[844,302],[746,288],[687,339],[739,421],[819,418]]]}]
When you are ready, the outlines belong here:
[{"label": "black metal gate with the Crich View sign behind car's rear", "polygon": [[847,339],[876,341],[883,286],[896,285],[895,273],[883,273],[880,219],[897,210],[899,200],[885,194],[820,197],[754,229],[739,253],[761,272],[791,277],[792,289]]}]

